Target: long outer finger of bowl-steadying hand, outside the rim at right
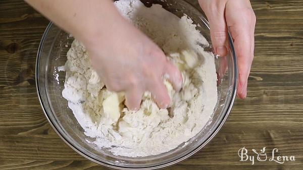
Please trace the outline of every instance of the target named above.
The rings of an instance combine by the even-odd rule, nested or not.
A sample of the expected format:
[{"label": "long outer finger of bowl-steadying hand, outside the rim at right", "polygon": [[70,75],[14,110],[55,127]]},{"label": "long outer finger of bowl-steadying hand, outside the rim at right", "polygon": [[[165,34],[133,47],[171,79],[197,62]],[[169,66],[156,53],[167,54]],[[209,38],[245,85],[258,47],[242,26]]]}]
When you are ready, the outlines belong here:
[{"label": "long outer finger of bowl-steadying hand, outside the rim at right", "polygon": [[[237,54],[239,81],[237,95],[245,98],[247,94],[247,79],[254,51],[254,36],[252,36],[253,11],[247,1],[228,1],[226,4],[226,23],[234,39],[234,48]],[[249,2],[249,1],[248,1]],[[250,5],[249,5],[250,6]]]}]

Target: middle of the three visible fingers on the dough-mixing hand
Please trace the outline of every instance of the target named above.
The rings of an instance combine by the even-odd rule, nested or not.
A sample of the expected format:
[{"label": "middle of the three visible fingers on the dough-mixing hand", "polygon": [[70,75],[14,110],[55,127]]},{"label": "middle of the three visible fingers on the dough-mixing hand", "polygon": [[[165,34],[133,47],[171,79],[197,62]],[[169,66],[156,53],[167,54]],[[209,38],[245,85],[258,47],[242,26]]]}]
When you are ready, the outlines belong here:
[{"label": "middle of the three visible fingers on the dough-mixing hand", "polygon": [[167,108],[169,106],[170,97],[161,78],[151,83],[148,87],[148,91],[150,91],[151,96],[153,96],[160,108]]}]

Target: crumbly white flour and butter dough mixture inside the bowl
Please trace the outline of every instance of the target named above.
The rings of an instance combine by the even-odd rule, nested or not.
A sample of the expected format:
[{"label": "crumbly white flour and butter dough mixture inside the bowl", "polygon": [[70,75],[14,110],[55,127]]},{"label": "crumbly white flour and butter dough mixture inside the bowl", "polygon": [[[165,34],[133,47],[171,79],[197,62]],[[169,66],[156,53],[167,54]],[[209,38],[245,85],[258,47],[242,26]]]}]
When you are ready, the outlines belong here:
[{"label": "crumbly white flour and butter dough mixture inside the bowl", "polygon": [[140,109],[130,111],[124,105],[124,94],[106,89],[85,47],[74,40],[67,53],[63,97],[85,135],[94,138],[93,144],[100,149],[130,157],[170,151],[211,120],[217,102],[214,55],[198,45],[209,44],[188,17],[180,19],[160,5],[146,8],[139,0],[121,0],[115,5],[178,66],[183,77],[181,91],[164,80],[171,97],[169,109],[159,109],[145,92]]}]

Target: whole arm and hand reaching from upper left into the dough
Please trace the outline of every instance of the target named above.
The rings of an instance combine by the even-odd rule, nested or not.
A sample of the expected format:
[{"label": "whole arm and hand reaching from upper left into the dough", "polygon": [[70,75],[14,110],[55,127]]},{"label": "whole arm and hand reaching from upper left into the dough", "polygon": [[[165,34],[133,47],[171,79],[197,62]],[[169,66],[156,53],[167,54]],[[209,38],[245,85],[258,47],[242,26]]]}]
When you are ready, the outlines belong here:
[{"label": "whole arm and hand reaching from upper left into the dough", "polygon": [[35,9],[72,33],[88,50],[92,66],[111,91],[125,92],[126,105],[140,107],[144,91],[161,108],[170,103],[163,76],[180,90],[180,71],[164,52],[124,19],[113,1],[26,0]]}]

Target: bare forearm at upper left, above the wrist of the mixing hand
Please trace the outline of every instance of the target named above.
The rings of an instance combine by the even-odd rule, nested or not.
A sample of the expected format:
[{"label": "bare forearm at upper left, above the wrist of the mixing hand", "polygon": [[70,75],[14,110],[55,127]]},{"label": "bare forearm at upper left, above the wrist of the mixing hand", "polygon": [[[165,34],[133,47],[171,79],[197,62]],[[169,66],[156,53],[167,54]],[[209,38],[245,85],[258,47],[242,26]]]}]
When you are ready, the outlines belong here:
[{"label": "bare forearm at upper left, above the wrist of the mixing hand", "polygon": [[123,20],[111,0],[25,1],[83,43],[92,41],[96,33],[106,38]]}]

